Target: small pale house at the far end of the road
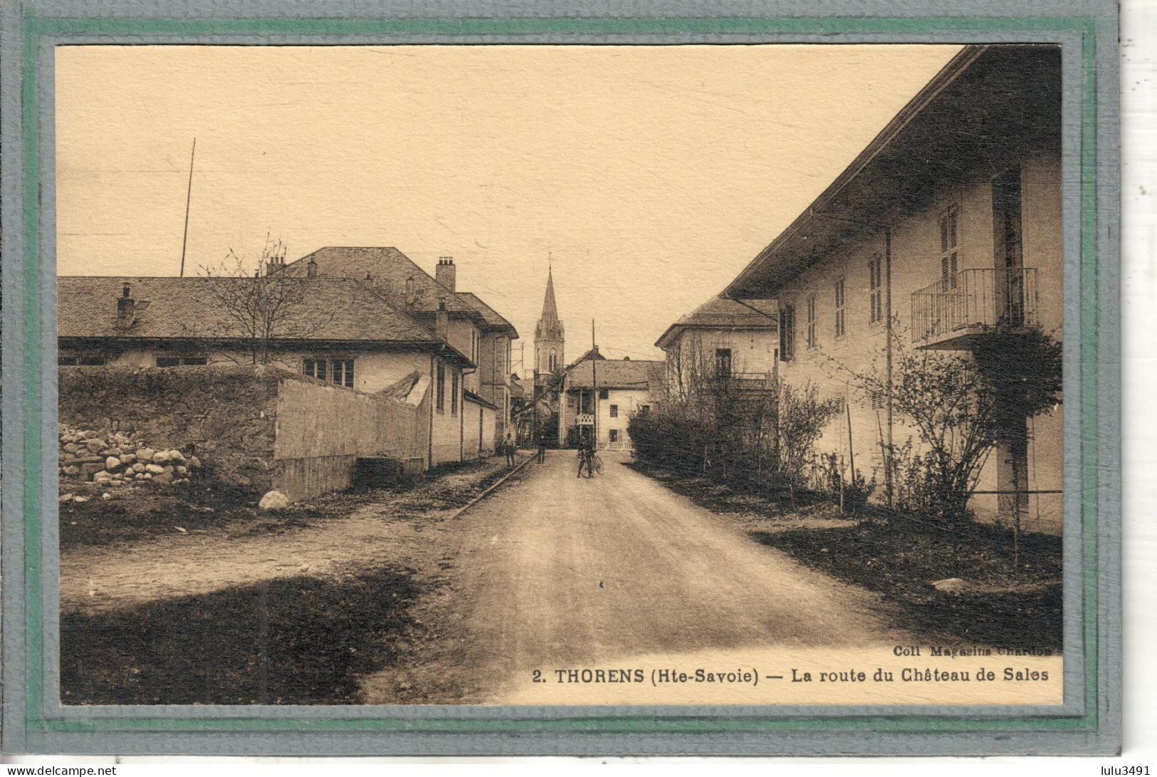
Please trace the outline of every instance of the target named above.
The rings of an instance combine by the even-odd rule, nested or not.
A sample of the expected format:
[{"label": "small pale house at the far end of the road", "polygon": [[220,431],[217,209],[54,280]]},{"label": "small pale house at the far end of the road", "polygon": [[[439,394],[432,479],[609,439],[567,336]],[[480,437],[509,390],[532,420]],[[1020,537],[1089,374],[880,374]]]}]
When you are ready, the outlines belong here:
[{"label": "small pale house at the far end of the road", "polygon": [[606,359],[595,347],[566,368],[559,400],[559,439],[574,445],[597,434],[599,448],[631,448],[627,422],[662,398],[664,362]]}]

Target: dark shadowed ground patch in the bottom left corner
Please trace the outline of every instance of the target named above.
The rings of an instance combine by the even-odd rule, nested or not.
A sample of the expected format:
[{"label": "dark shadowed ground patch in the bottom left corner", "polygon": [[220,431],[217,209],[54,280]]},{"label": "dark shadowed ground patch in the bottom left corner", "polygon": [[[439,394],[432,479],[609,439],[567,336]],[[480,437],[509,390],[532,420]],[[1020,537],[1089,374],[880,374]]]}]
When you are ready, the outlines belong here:
[{"label": "dark shadowed ground patch in the bottom left corner", "polygon": [[101,615],[62,615],[64,704],[358,704],[396,659],[407,572],[277,579]]}]

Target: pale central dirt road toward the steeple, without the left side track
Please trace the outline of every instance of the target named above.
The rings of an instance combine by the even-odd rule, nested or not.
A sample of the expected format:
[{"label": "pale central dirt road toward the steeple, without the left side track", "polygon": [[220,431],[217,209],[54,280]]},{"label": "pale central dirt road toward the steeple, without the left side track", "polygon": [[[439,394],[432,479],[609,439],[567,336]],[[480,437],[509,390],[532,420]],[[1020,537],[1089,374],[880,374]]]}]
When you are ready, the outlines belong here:
[{"label": "pale central dirt road toward the steeple, without the left side track", "polygon": [[[450,585],[430,606],[444,638],[421,660],[459,675],[460,701],[507,698],[533,668],[628,655],[894,644],[872,594],[753,542],[621,454],[603,459],[603,476],[576,478],[574,455],[551,452],[459,519]],[[396,681],[368,679],[367,702],[392,698]]]}]

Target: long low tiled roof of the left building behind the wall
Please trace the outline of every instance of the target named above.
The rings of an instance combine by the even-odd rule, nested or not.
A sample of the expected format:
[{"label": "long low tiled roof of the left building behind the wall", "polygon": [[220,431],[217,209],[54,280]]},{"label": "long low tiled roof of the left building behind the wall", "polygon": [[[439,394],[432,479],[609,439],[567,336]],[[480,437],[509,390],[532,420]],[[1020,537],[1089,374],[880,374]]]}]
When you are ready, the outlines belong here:
[{"label": "long low tiled roof of the left building behind the wall", "polygon": [[[245,283],[256,279],[61,276],[57,279],[57,336],[245,338],[223,303],[231,288]],[[292,314],[273,332],[275,339],[442,344],[355,280],[294,278],[286,283],[300,285],[301,293],[290,293]],[[137,302],[135,320],[128,329],[117,329],[117,299],[126,284]]]}]

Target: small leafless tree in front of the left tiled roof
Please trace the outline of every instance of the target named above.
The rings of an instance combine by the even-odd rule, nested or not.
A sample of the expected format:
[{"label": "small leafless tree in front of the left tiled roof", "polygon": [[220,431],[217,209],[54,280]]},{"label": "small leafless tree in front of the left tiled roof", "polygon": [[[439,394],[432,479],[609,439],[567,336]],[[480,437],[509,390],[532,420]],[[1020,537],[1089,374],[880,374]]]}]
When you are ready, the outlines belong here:
[{"label": "small leafless tree in front of the left tiled roof", "polygon": [[202,266],[211,279],[204,286],[202,301],[224,313],[207,327],[193,332],[202,337],[236,339],[239,364],[265,365],[274,355],[281,339],[303,339],[318,333],[334,316],[334,310],[307,307],[308,280],[297,265],[285,263],[286,245],[281,240],[265,239],[265,247],[250,269],[233,248],[215,266]]}]

